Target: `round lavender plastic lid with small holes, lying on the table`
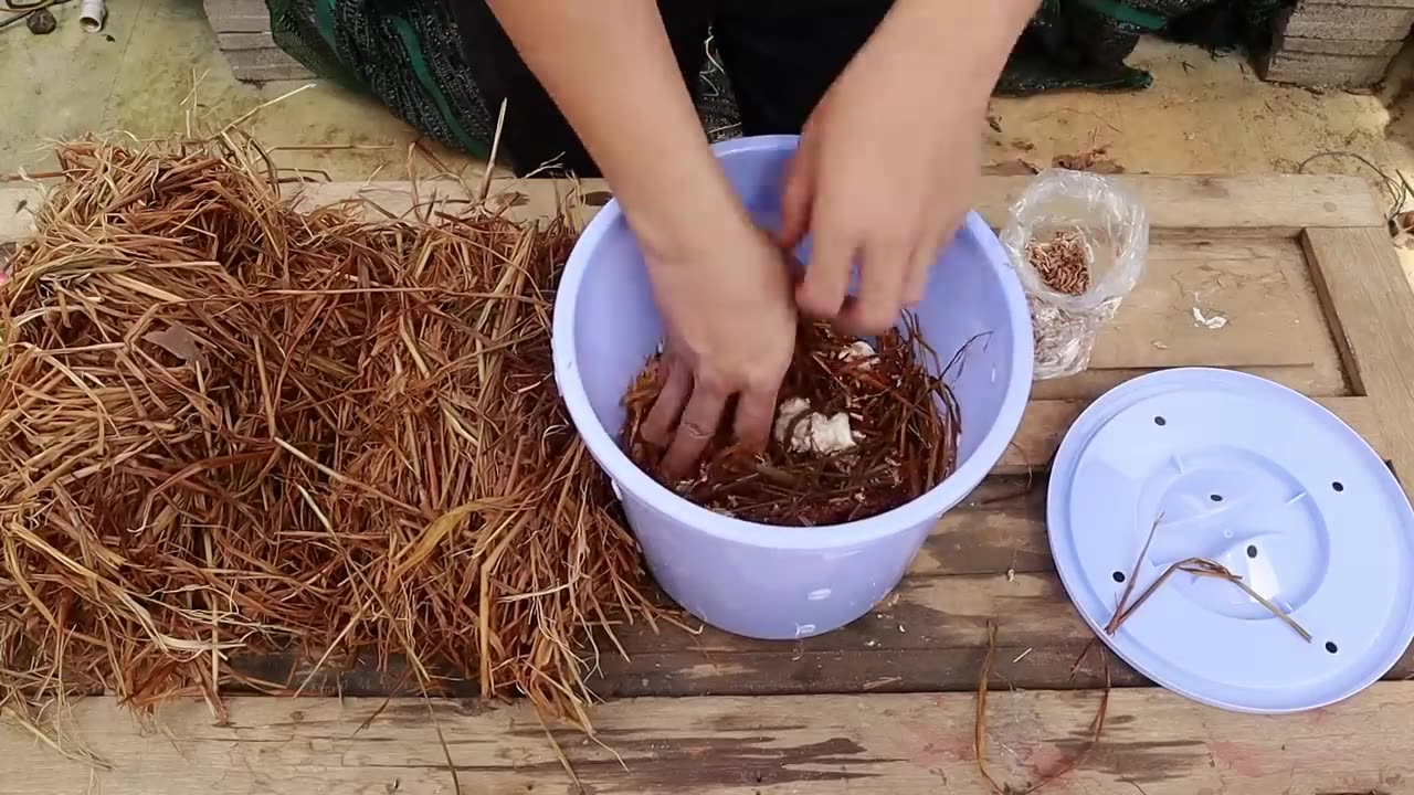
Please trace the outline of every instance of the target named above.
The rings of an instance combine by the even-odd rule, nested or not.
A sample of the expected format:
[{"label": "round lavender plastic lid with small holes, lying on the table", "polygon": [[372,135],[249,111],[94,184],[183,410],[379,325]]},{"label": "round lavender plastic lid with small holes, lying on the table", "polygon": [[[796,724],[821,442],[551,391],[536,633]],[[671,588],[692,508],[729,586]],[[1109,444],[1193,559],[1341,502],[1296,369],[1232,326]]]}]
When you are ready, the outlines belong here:
[{"label": "round lavender plastic lid with small holes, lying on the table", "polygon": [[[1096,634],[1206,704],[1325,706],[1376,682],[1414,638],[1408,498],[1349,426],[1270,381],[1172,369],[1110,390],[1056,453],[1046,522]],[[1312,639],[1233,583],[1184,571],[1104,631],[1128,586],[1133,605],[1188,557],[1225,566]]]}]

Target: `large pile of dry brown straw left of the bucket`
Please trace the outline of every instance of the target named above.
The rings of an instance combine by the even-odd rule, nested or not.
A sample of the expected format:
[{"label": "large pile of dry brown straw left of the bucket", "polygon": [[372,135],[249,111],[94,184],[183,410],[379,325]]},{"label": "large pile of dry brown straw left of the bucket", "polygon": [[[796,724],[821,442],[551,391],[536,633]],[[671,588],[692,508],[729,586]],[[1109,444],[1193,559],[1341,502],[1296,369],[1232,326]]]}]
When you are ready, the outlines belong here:
[{"label": "large pile of dry brown straw left of the bucket", "polygon": [[4,712],[219,717],[293,645],[587,726],[588,629],[653,615],[551,378],[570,225],[297,212],[232,136],[59,156],[0,310]]}]

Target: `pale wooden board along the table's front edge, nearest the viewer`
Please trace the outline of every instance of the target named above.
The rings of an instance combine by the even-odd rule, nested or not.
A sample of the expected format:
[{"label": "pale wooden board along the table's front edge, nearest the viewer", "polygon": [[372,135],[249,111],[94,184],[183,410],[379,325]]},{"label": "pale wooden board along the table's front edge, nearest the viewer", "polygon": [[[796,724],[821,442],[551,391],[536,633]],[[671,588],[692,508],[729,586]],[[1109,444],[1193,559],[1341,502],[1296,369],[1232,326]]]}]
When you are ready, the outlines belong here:
[{"label": "pale wooden board along the table's front edge, nearest the viewer", "polygon": [[[235,699],[230,726],[212,726],[202,704],[181,703],[144,727],[113,699],[90,699],[75,707],[74,729],[112,772],[90,778],[57,754],[14,753],[28,743],[8,730],[0,781],[7,792],[103,795],[983,794],[974,700],[967,693],[619,700],[595,712],[600,743],[554,734],[577,788],[523,707]],[[1099,700],[1087,690],[993,693],[993,775],[1024,789],[1058,770],[1085,747]],[[1407,794],[1414,791],[1411,714],[1414,683],[1380,685],[1287,717],[1120,690],[1110,697],[1100,747],[1048,791]]]}]

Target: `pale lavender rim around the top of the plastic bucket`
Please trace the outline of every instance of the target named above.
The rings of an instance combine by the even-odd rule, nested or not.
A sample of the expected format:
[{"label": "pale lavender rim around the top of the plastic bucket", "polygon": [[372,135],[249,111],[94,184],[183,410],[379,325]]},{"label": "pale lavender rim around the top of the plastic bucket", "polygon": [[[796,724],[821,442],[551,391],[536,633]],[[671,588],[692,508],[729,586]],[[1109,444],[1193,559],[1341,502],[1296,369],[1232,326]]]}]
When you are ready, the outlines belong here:
[{"label": "pale lavender rim around the top of the plastic bucket", "polygon": [[[711,150],[718,158],[742,151],[786,153],[793,151],[799,140],[799,136],[755,136],[723,141],[714,144]],[[967,214],[959,235],[967,235],[978,245],[984,255],[983,259],[991,267],[1003,291],[1007,321],[1011,325],[1012,340],[1008,354],[1012,359],[1012,371],[1001,407],[997,412],[997,420],[978,441],[973,454],[952,475],[922,497],[892,511],[854,522],[810,528],[762,525],[724,516],[679,497],[629,460],[617,437],[608,433],[594,413],[578,372],[575,323],[578,320],[580,287],[601,239],[621,222],[625,222],[624,212],[618,199],[612,198],[585,225],[566,262],[556,291],[551,321],[554,378],[575,430],[615,488],[642,499],[666,518],[723,540],[762,549],[817,550],[868,543],[916,529],[919,525],[932,523],[943,512],[962,502],[987,477],[1021,426],[1021,416],[1031,395],[1034,364],[1031,311],[1027,307],[1021,280],[1012,270],[1001,242],[987,222],[976,211],[971,211]]]}]

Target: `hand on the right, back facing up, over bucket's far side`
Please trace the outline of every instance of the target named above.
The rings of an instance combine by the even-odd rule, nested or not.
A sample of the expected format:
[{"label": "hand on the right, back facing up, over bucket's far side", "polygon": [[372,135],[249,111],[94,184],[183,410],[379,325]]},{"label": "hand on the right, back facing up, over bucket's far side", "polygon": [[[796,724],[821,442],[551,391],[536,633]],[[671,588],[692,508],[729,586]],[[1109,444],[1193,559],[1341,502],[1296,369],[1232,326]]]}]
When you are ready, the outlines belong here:
[{"label": "hand on the right, back facing up, over bucket's far side", "polygon": [[813,235],[796,289],[806,315],[878,334],[922,300],[980,171],[995,74],[962,74],[970,55],[891,16],[810,115],[782,199],[782,242]]}]

